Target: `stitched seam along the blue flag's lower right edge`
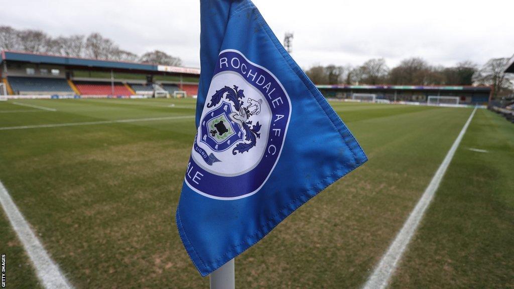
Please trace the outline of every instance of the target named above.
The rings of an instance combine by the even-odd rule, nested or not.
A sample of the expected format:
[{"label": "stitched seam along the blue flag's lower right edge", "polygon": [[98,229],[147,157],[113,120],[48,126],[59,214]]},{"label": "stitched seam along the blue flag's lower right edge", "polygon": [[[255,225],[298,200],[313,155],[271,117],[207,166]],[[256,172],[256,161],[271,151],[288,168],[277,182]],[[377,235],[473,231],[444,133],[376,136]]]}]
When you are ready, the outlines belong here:
[{"label": "stitched seam along the blue flag's lower right edge", "polygon": [[[352,168],[350,169],[347,169],[345,171],[343,171],[342,175],[346,175],[348,172],[351,172],[353,170],[355,170],[356,168],[358,167],[358,165],[355,165],[353,166]],[[266,222],[266,224],[262,225],[254,234],[251,234],[250,236],[248,236],[247,238],[245,238],[245,240],[237,245],[235,245],[234,247],[232,247],[228,252],[226,252],[224,255],[222,255],[221,257],[219,257],[218,259],[216,259],[216,261],[214,261],[214,263],[218,263],[219,260],[223,259],[225,256],[227,256],[232,250],[236,249],[237,247],[241,247],[244,243],[246,243],[249,239],[251,238],[254,238],[257,236],[257,234],[259,233],[262,233],[264,234],[264,236],[261,238],[263,239],[274,227],[276,227],[280,222],[282,222],[285,218],[287,218],[287,216],[289,216],[292,212],[294,212],[296,209],[298,209],[301,205],[305,204],[308,200],[310,200],[311,198],[313,198],[314,196],[316,196],[319,192],[321,192],[323,189],[325,189],[326,187],[328,187],[328,185],[326,185],[325,187],[323,187],[323,189],[319,190],[319,191],[316,191],[316,187],[320,184],[322,184],[323,182],[325,182],[325,180],[327,178],[330,178],[332,176],[334,176],[340,169],[343,169],[344,166],[341,166],[339,168],[337,168],[334,172],[332,172],[332,174],[329,174],[328,176],[326,176],[325,178],[323,178],[322,180],[320,180],[318,183],[314,184],[313,186],[311,186],[310,188],[307,189],[307,191],[305,191],[303,194],[297,196],[296,198],[294,198],[291,202],[289,202],[287,205],[283,206],[281,209],[279,209],[279,211],[272,215],[269,219],[268,219],[268,222]],[[301,202],[300,205],[292,210],[290,210],[290,212],[288,214],[286,214],[283,218],[280,218],[280,220],[275,223],[273,225],[273,227],[268,230],[267,232],[263,231],[263,229],[269,225],[269,223],[273,222],[273,219],[280,215],[281,213],[283,213],[282,211],[285,210],[285,209],[288,209],[289,205],[295,203],[296,201],[298,201],[300,198],[304,197],[305,195],[308,195],[309,192],[315,192],[314,195],[311,195],[305,202]],[[255,241],[253,242],[250,246],[248,247],[251,247],[253,244],[255,244],[256,242],[258,241]],[[247,247],[247,248],[248,248]],[[237,251],[236,251],[237,252]],[[232,259],[232,258],[229,258],[229,260]],[[227,260],[228,261],[228,260]]]}]

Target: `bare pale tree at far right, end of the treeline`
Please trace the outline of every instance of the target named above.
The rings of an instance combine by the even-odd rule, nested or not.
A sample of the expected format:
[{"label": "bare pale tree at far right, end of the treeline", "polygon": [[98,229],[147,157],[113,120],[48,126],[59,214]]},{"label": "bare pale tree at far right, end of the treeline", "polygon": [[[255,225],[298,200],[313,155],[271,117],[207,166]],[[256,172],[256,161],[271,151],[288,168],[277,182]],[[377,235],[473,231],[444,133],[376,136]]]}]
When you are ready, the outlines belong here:
[{"label": "bare pale tree at far right, end of the treeline", "polygon": [[510,82],[514,80],[514,77],[505,73],[507,62],[508,58],[490,59],[473,75],[476,83],[492,86],[493,98],[496,98],[502,92],[507,92],[512,85]]}]

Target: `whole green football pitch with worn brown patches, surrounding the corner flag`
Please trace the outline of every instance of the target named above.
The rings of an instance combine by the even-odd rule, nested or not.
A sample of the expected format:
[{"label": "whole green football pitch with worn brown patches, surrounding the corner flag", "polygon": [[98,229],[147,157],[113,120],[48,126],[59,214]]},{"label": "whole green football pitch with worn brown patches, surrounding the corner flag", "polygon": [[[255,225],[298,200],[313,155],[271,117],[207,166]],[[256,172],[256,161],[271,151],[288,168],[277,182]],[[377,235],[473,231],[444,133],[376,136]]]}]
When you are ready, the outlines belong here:
[{"label": "whole green football pitch with worn brown patches, surrounding the corner flag", "polygon": [[[175,225],[195,105],[0,102],[0,180],[76,288],[209,287]],[[331,105],[369,161],[237,257],[238,288],[362,286],[472,112]],[[514,125],[477,110],[391,288],[514,288],[513,160]],[[3,210],[0,230],[7,287],[41,287]]]}]

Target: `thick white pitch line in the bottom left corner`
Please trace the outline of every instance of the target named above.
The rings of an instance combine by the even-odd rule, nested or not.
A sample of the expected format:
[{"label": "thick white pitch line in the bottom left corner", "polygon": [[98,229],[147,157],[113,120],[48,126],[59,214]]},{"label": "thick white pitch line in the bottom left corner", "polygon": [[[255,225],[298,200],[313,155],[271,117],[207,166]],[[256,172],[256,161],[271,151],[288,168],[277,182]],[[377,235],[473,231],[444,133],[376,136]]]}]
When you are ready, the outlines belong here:
[{"label": "thick white pitch line in the bottom left corner", "polygon": [[25,247],[25,251],[32,261],[35,272],[43,286],[47,289],[72,288],[69,281],[59,269],[59,266],[48,256],[45,248],[30,229],[30,225],[23,218],[22,213],[12,201],[6,188],[0,182],[0,203],[7,214],[7,218],[16,231],[18,238]]}]

